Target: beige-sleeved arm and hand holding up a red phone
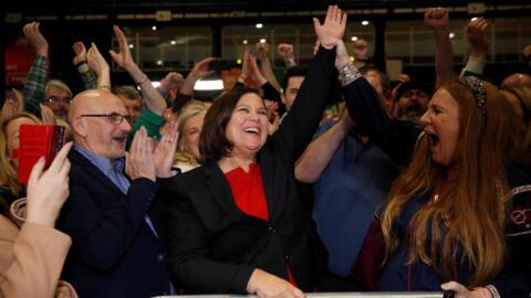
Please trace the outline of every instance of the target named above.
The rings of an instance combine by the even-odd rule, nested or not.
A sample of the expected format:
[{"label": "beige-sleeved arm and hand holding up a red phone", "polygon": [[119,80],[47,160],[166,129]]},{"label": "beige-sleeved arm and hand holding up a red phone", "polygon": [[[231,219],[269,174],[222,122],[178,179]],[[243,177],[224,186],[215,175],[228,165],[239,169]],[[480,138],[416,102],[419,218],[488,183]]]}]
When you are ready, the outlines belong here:
[{"label": "beige-sleeved arm and hand holding up a red phone", "polygon": [[[25,202],[15,201],[11,215],[0,214],[0,297],[77,297],[65,283],[58,288],[72,242],[53,227],[69,196],[71,147],[65,145],[45,172],[41,158],[31,171],[28,196],[21,199]],[[15,212],[24,203],[24,212]]]}]

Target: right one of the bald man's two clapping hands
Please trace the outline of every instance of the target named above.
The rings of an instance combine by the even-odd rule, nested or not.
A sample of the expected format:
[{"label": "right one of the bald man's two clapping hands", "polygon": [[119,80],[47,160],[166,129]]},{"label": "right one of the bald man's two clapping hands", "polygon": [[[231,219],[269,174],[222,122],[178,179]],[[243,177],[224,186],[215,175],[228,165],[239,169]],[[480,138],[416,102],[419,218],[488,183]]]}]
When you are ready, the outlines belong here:
[{"label": "right one of the bald man's two clapping hands", "polygon": [[177,129],[177,123],[169,123],[166,128],[166,134],[164,134],[153,152],[157,177],[159,178],[171,177],[171,166],[174,164],[177,139],[179,138]]}]

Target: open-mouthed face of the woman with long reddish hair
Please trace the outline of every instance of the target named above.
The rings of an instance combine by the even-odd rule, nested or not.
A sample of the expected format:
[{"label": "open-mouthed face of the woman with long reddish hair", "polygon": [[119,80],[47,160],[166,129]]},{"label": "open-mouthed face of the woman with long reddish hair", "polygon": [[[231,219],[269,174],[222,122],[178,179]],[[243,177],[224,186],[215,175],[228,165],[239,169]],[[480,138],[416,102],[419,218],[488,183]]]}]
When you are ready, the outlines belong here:
[{"label": "open-mouthed face of the woman with long reddish hair", "polygon": [[439,88],[434,94],[420,124],[431,139],[434,162],[442,167],[455,166],[459,157],[459,104],[447,89]]}]

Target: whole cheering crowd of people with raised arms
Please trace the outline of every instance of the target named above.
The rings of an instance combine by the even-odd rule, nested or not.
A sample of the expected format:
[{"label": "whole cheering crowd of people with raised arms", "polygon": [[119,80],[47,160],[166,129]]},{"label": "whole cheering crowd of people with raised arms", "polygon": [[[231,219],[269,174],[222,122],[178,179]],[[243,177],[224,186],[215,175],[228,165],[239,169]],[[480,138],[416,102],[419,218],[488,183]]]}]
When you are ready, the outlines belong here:
[{"label": "whole cheering crowd of people with raised arms", "polygon": [[[48,41],[25,24],[35,58],[1,108],[0,297],[530,296],[531,76],[483,76],[482,18],[456,74],[448,11],[424,21],[436,82],[392,86],[363,40],[351,61],[347,15],[331,6],[313,19],[310,65],[280,44],[279,82],[258,43],[212,102],[194,85],[214,57],[154,87],[116,25],[110,55],[135,86],[113,86],[97,45],[75,42],[74,94],[49,79]],[[337,97],[339,115],[323,117]],[[27,184],[21,125],[63,126],[67,139]]]}]

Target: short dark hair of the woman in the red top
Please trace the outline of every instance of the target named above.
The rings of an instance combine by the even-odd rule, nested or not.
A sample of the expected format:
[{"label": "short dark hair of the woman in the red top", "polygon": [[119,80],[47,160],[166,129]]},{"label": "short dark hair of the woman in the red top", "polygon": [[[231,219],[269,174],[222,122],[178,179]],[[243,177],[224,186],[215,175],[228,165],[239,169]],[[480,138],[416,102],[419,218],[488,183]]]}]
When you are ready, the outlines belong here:
[{"label": "short dark hair of the woman in the red top", "polygon": [[241,96],[248,93],[258,95],[252,88],[233,88],[218,97],[208,109],[199,138],[199,151],[205,159],[218,161],[230,156],[233,145],[227,139],[225,129]]}]

